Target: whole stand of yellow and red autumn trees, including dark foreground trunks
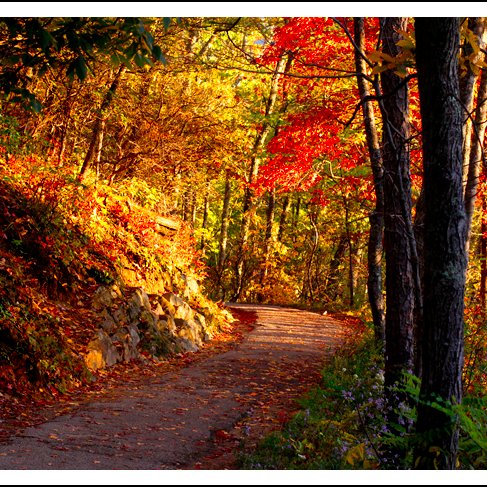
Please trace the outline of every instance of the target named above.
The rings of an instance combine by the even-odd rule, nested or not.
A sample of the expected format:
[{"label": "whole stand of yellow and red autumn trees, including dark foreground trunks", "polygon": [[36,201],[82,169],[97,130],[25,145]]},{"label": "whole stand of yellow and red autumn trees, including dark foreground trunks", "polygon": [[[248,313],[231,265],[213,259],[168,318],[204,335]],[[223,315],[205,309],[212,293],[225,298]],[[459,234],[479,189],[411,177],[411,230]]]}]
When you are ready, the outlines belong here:
[{"label": "whole stand of yellow and red autumn trees, including dark foreground trunks", "polygon": [[[215,298],[368,301],[389,393],[414,371],[426,400],[461,401],[468,252],[487,308],[484,30],[2,18],[0,146],[184,220]],[[453,468],[454,422],[421,406],[417,428]]]}]

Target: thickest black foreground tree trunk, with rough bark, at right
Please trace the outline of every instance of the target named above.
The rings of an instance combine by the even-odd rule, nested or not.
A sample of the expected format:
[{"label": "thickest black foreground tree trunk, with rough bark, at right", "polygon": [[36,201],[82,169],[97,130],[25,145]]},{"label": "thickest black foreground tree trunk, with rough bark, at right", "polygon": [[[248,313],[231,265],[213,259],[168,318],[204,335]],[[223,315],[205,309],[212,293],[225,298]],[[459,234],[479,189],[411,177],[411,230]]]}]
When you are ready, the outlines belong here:
[{"label": "thickest black foreground tree trunk, with rough bark, at right", "polygon": [[[424,340],[421,398],[462,399],[466,215],[462,192],[462,108],[458,18],[416,18],[424,155]],[[454,469],[454,418],[418,405],[418,468]]]}]

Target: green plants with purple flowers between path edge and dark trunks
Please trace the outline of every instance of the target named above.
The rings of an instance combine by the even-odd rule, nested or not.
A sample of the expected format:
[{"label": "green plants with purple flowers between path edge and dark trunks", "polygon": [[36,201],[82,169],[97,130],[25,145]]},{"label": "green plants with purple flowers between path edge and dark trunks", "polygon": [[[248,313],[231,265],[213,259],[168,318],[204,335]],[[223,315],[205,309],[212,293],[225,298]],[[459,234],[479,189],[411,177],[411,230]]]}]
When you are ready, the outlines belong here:
[{"label": "green plants with purple flowers between path edge and dark trunks", "polygon": [[371,339],[343,349],[282,431],[242,457],[249,469],[371,469],[380,463],[383,377]]}]

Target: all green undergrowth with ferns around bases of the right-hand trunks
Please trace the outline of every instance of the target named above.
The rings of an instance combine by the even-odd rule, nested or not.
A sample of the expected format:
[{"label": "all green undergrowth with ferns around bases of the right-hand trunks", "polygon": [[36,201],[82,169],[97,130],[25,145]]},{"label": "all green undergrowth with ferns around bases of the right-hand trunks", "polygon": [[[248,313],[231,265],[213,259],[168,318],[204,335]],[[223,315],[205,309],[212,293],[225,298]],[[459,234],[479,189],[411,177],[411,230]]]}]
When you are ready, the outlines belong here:
[{"label": "all green undergrowth with ferns around bases of the right-hand trunks", "polygon": [[[409,396],[387,424],[382,354],[366,335],[340,350],[322,371],[322,384],[300,399],[300,410],[253,452],[242,453],[241,468],[258,470],[412,469],[419,379],[406,375],[398,392]],[[487,400],[470,390],[461,405],[432,406],[456,416],[460,426],[458,468],[487,466]],[[392,432],[393,430],[394,432]],[[395,455],[391,458],[390,451]]]}]

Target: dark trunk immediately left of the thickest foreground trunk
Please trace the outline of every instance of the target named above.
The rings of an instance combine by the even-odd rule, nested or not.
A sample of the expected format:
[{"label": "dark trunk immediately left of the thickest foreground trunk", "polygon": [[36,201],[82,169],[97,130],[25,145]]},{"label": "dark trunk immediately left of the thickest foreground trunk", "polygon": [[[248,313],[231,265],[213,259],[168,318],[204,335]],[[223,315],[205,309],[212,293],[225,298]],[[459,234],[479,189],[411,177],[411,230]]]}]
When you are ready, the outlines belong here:
[{"label": "dark trunk immediately left of the thickest foreground trunk", "polygon": [[[400,53],[400,31],[407,19],[381,19],[383,52]],[[386,256],[385,385],[392,387],[402,373],[413,368],[415,306],[412,198],[408,139],[409,96],[407,85],[392,71],[381,76],[383,102],[384,248]],[[414,249],[413,249],[414,247]],[[391,394],[391,401],[394,394]]]}]

